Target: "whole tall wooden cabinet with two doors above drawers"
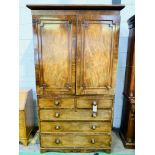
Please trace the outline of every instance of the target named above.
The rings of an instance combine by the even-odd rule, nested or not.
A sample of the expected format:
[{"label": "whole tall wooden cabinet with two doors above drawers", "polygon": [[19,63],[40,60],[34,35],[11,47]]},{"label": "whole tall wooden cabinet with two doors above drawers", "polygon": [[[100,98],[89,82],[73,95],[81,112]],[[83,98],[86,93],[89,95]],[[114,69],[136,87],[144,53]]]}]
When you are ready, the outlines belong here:
[{"label": "whole tall wooden cabinet with two doors above drawers", "polygon": [[32,10],[41,151],[110,151],[123,5]]}]

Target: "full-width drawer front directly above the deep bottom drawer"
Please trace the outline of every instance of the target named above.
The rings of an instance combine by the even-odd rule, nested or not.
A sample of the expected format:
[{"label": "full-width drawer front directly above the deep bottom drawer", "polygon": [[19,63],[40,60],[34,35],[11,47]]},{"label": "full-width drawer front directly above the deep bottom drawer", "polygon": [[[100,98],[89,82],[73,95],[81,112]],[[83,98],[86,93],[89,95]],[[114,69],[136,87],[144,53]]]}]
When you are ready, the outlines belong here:
[{"label": "full-width drawer front directly above the deep bottom drawer", "polygon": [[40,122],[41,132],[111,132],[111,122]]}]

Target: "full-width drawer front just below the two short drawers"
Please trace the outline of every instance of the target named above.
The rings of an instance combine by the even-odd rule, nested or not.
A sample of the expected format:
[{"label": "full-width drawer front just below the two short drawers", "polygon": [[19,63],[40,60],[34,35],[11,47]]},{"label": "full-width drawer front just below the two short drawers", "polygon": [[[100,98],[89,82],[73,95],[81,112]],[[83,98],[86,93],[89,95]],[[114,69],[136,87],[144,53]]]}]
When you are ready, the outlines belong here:
[{"label": "full-width drawer front just below the two short drawers", "polygon": [[99,120],[110,121],[112,119],[112,111],[107,109],[97,110],[96,117],[92,116],[92,110],[78,109],[42,109],[40,110],[40,120]]}]

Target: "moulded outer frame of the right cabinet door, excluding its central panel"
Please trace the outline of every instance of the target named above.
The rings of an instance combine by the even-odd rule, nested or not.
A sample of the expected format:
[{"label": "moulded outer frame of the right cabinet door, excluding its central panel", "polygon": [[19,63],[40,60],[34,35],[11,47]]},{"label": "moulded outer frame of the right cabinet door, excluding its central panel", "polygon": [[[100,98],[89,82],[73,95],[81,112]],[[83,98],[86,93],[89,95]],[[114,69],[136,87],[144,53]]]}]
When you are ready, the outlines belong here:
[{"label": "moulded outer frame of the right cabinet door, excluding its central panel", "polygon": [[[77,95],[93,95],[93,94],[107,94],[114,95],[114,83],[116,79],[116,65],[118,54],[118,34],[119,34],[119,17],[113,15],[78,15],[77,17],[77,60],[76,60],[76,94]],[[111,58],[109,85],[107,87],[89,88],[84,83],[84,27],[89,23],[106,23],[112,27],[112,41],[111,41]],[[116,41],[115,41],[116,40]],[[114,69],[115,68],[115,69]],[[115,73],[114,73],[115,72]]]}]

